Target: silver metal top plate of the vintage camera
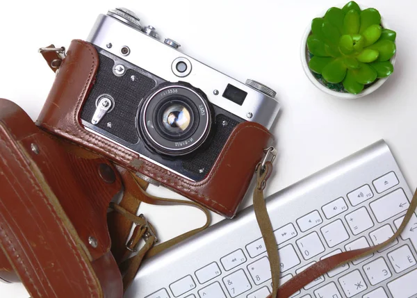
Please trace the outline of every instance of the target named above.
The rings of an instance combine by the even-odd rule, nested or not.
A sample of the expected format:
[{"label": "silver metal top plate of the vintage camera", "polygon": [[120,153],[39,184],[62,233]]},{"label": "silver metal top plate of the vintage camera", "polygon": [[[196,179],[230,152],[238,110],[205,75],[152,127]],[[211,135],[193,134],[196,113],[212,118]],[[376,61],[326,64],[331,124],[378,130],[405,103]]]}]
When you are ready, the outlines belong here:
[{"label": "silver metal top plate of the vintage camera", "polygon": [[[275,98],[204,65],[169,44],[126,26],[114,17],[99,15],[87,41],[166,81],[186,81],[203,90],[211,104],[247,121],[257,122],[267,129],[270,129],[279,112],[279,102]],[[108,44],[112,46],[108,47]],[[130,52],[126,56],[120,53],[123,47],[129,47]],[[174,60],[179,58],[185,58],[192,67],[187,76],[179,76],[179,72],[173,69]],[[222,97],[229,84],[247,92],[242,105]]]}]

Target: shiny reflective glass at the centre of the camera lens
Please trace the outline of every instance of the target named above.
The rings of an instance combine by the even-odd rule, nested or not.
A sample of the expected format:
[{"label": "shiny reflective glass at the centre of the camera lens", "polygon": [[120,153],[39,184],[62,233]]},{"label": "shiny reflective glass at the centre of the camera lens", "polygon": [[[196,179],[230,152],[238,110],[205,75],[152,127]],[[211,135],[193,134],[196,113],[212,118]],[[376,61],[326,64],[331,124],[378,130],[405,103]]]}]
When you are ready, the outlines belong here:
[{"label": "shiny reflective glass at the centre of the camera lens", "polygon": [[181,104],[166,108],[162,117],[163,126],[170,133],[181,134],[190,127],[190,111]]}]

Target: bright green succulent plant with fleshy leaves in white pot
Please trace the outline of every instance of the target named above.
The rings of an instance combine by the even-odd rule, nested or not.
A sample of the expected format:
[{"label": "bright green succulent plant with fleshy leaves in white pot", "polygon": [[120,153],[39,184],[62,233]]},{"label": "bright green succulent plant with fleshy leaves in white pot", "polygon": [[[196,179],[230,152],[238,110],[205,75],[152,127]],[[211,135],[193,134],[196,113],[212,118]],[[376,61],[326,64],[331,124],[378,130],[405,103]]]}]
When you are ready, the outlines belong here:
[{"label": "bright green succulent plant with fleshy leaves in white pot", "polygon": [[347,92],[358,94],[393,73],[395,37],[395,31],[382,28],[375,8],[361,10],[354,1],[330,8],[325,17],[311,22],[309,68],[328,83],[341,83]]}]

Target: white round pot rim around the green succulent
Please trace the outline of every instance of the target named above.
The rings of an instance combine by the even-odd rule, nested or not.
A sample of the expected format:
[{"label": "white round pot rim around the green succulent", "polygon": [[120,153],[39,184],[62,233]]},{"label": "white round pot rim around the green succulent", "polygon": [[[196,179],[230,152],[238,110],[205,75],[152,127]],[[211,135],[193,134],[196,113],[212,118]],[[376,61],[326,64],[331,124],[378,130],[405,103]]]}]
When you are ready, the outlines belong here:
[{"label": "white round pot rim around the green succulent", "polygon": [[[367,7],[364,6],[360,6],[361,10],[366,9]],[[317,17],[324,17],[325,13],[322,13],[320,15],[318,15]],[[390,28],[388,24],[386,24],[386,22],[384,21],[384,19],[381,17],[381,24],[383,28]],[[302,63],[302,67],[304,68],[304,72],[306,73],[307,77],[310,79],[311,83],[313,83],[318,89],[322,90],[322,92],[325,92],[327,94],[330,94],[334,97],[338,97],[341,99],[357,99],[359,97],[363,97],[365,95],[371,94],[372,92],[374,92],[375,90],[377,90],[379,87],[381,87],[381,85],[383,83],[386,82],[386,80],[389,78],[379,78],[375,83],[373,83],[372,85],[370,85],[368,88],[364,89],[361,93],[359,94],[352,94],[349,92],[337,92],[334,90],[330,90],[329,88],[327,88],[325,85],[323,85],[323,83],[321,81],[319,81],[311,72],[311,70],[309,69],[309,63],[308,63],[308,55],[309,55],[309,51],[307,49],[307,38],[309,37],[311,33],[311,21],[309,26],[307,26],[306,31],[304,32],[304,35],[302,37],[302,42],[301,42],[301,63]],[[393,58],[391,58],[391,63],[393,65],[395,65],[395,55],[394,54]]]}]

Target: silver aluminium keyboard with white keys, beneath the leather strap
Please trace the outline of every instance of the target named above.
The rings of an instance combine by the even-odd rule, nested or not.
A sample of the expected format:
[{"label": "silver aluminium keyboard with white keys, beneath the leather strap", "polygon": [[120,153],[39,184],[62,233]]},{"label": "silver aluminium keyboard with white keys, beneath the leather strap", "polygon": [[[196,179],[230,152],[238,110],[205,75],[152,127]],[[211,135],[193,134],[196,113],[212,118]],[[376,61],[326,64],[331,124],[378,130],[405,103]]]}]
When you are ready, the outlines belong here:
[{"label": "silver aluminium keyboard with white keys, beneath the leather strap", "polygon": [[[272,194],[281,283],[320,259],[384,242],[411,192],[384,141]],[[389,247],[306,285],[300,298],[417,297],[417,217]],[[271,275],[252,207],[146,260],[127,298],[265,298]]]}]

